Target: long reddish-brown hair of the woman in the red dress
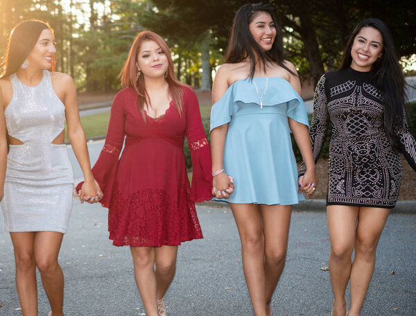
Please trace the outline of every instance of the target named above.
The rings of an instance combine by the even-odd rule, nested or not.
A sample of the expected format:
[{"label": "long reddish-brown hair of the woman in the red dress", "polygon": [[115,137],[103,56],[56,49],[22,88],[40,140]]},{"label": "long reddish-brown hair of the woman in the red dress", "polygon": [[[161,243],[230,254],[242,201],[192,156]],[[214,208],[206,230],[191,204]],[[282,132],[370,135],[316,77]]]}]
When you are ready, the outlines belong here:
[{"label": "long reddish-brown hair of the woman in the red dress", "polygon": [[[173,67],[173,61],[171,58],[171,51],[168,48],[166,42],[157,35],[156,33],[150,30],[144,30],[137,34],[135,42],[132,44],[132,48],[128,53],[128,58],[125,61],[123,69],[121,69],[119,77],[121,78],[121,86],[123,88],[130,87],[135,88],[137,92],[137,106],[141,114],[144,116],[144,104],[149,100],[148,93],[144,87],[144,76],[139,76],[139,79],[136,80],[137,76],[137,55],[139,55],[140,46],[145,41],[156,42],[157,45],[164,51],[166,58],[168,59],[168,71],[166,74],[166,82],[169,85],[169,94],[173,99],[173,103],[179,114],[182,114],[182,105],[183,105],[183,91],[182,87],[189,87],[175,78],[175,68]],[[189,87],[190,88],[190,87]],[[144,117],[145,119],[145,117]]]}]

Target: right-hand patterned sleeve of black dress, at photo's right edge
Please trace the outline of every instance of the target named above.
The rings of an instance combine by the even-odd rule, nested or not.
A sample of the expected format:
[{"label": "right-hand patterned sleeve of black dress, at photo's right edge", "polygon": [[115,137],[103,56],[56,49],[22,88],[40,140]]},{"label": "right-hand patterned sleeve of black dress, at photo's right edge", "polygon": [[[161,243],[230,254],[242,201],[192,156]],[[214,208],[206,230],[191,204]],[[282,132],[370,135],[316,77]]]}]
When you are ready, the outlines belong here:
[{"label": "right-hand patterned sleeve of black dress, at photo's right edge", "polygon": [[[403,109],[404,112],[404,109]],[[399,151],[408,161],[408,164],[416,172],[416,141],[415,137],[410,133],[406,119],[406,112],[403,113],[403,122],[401,125],[395,126],[395,134]]]}]

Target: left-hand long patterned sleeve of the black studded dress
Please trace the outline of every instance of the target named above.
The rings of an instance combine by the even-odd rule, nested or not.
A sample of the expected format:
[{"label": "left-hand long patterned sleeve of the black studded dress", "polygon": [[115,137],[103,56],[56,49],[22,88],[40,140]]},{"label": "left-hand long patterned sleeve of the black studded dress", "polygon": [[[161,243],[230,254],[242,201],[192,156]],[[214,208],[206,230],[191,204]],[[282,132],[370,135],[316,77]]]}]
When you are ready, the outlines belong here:
[{"label": "left-hand long patterned sleeve of the black studded dress", "polygon": [[[323,75],[315,89],[315,96],[313,97],[313,117],[311,123],[311,145],[313,152],[313,159],[315,164],[318,161],[322,145],[327,139],[329,125],[329,113],[327,107],[327,94],[325,93],[325,75]],[[299,176],[306,173],[305,161],[302,161],[300,166]]]}]

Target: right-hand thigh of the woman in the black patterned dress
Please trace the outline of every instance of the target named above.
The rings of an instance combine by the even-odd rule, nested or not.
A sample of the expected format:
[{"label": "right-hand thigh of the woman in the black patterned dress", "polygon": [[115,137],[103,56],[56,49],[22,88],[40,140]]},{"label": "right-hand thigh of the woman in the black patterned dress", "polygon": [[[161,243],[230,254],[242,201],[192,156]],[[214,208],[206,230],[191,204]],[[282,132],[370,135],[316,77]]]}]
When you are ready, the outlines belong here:
[{"label": "right-hand thigh of the woman in the black patterned dress", "polygon": [[358,213],[356,238],[360,243],[376,245],[379,243],[381,232],[384,229],[391,209],[378,207],[361,207]]}]

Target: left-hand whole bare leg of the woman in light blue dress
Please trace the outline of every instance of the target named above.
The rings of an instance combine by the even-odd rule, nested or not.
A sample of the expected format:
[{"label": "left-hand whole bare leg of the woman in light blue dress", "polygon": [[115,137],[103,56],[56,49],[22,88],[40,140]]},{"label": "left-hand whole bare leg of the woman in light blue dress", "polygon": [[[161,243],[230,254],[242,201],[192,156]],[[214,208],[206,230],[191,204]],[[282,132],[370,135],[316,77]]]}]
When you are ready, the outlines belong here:
[{"label": "left-hand whole bare leg of the woman in light blue dress", "polygon": [[254,204],[229,203],[241,240],[241,257],[248,292],[256,316],[266,316],[264,235],[260,208]]}]

